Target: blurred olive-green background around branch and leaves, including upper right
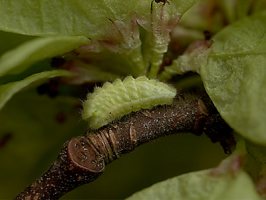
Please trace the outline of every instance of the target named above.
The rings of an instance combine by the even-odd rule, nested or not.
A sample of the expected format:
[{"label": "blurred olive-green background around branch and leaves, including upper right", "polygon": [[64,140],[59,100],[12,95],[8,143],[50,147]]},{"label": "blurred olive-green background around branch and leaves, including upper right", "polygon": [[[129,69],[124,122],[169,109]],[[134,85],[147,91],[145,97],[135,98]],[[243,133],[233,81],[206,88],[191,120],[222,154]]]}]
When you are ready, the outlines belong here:
[{"label": "blurred olive-green background around branch and leaves, including upper right", "polygon": [[[265,0],[200,1],[173,31],[162,67],[193,41],[208,40],[231,22],[265,7]],[[33,38],[0,32],[0,55]],[[36,63],[21,74],[0,77],[0,84],[50,65],[51,60]],[[13,199],[49,167],[66,140],[85,134],[87,125],[80,113],[87,91],[86,87],[58,86],[57,80],[38,83],[16,94],[0,110],[0,199]],[[62,199],[124,199],[158,181],[214,167],[223,158],[219,144],[205,136],[184,133],[160,138],[122,156],[96,181]]]}]

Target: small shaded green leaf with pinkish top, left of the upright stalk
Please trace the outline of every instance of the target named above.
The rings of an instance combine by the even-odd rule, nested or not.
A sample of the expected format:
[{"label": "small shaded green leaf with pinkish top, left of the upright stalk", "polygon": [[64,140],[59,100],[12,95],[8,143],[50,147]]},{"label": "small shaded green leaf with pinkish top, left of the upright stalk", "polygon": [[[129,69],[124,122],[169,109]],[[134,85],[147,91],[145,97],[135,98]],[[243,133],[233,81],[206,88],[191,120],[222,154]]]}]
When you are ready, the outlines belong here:
[{"label": "small shaded green leaf with pinkish top, left of the upright stalk", "polygon": [[[132,35],[135,33],[132,32]],[[111,46],[96,41],[76,51],[80,54],[79,58],[87,60],[90,66],[99,70],[119,76],[140,76],[146,72],[140,48],[141,42],[135,38],[134,41],[125,39]]]}]

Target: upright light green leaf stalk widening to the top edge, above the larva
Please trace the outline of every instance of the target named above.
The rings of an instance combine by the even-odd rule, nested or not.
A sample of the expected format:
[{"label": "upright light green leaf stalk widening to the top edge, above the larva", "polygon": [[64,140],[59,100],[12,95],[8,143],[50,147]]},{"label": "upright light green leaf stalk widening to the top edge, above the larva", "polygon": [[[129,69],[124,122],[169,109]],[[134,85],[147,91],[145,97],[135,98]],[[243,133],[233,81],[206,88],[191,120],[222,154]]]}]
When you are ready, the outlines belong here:
[{"label": "upright light green leaf stalk widening to the top edge, above the larva", "polygon": [[144,38],[144,60],[148,60],[148,64],[150,65],[148,75],[154,78],[159,71],[163,55],[167,52],[170,42],[170,32],[178,24],[182,15],[198,1],[177,0],[169,1],[166,4],[152,2],[150,27],[146,27],[148,32],[142,38]]}]

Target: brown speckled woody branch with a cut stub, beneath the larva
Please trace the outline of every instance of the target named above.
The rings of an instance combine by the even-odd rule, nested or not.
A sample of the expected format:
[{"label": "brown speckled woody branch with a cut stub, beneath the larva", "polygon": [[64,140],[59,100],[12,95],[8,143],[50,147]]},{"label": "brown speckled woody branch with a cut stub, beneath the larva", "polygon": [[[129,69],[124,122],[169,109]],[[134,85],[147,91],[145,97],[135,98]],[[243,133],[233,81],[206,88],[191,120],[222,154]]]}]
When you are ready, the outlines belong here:
[{"label": "brown speckled woody branch with a cut stub, beneath the larva", "polygon": [[140,144],[180,132],[203,132],[226,151],[234,140],[211,101],[202,93],[178,94],[170,106],[158,106],[123,117],[95,132],[64,144],[57,160],[16,199],[58,199],[79,185],[94,181],[106,164]]}]

